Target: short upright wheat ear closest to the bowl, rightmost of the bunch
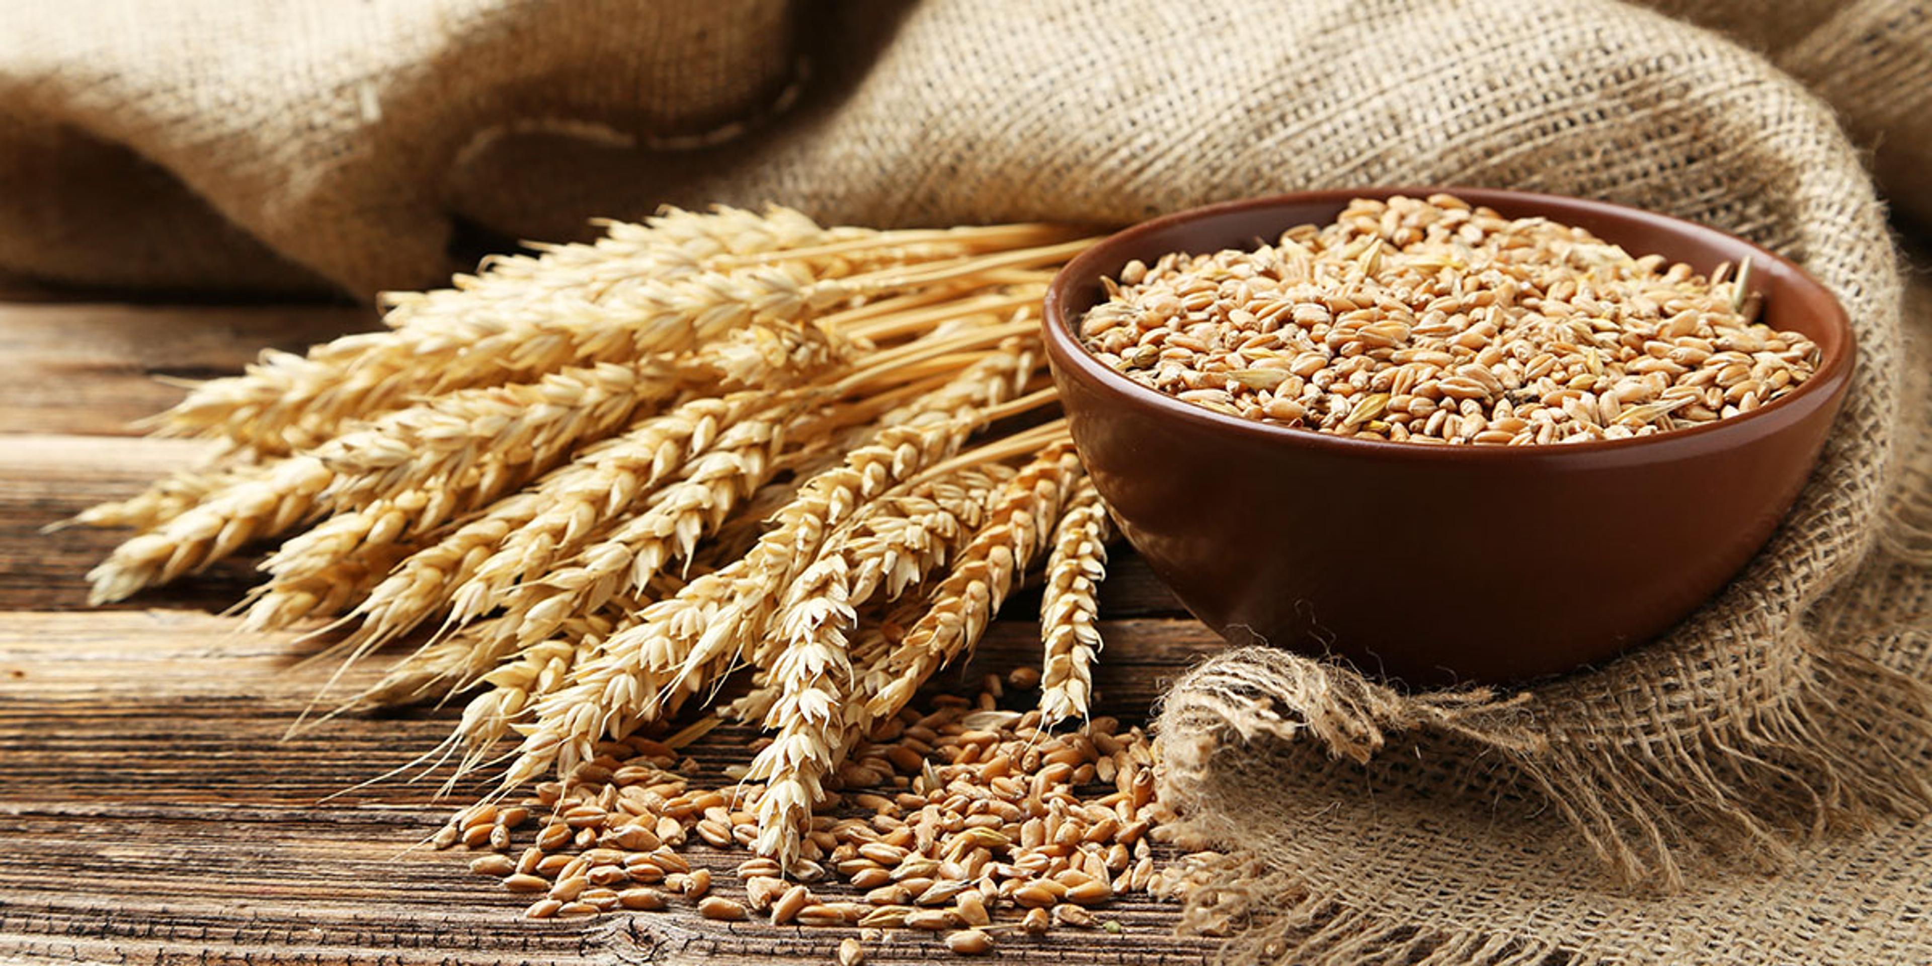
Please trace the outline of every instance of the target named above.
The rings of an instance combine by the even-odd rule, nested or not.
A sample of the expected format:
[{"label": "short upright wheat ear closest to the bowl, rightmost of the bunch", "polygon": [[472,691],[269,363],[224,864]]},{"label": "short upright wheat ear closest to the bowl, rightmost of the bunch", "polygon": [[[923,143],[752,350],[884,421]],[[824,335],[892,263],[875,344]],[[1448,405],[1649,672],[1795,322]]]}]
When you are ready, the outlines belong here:
[{"label": "short upright wheat ear closest to the bowl, rightmost of the bunch", "polygon": [[1094,479],[1082,475],[1053,531],[1053,556],[1047,558],[1047,585],[1039,599],[1039,638],[1045,643],[1039,713],[1045,726],[1088,717],[1094,659],[1101,649],[1095,591],[1105,578],[1107,504]]}]

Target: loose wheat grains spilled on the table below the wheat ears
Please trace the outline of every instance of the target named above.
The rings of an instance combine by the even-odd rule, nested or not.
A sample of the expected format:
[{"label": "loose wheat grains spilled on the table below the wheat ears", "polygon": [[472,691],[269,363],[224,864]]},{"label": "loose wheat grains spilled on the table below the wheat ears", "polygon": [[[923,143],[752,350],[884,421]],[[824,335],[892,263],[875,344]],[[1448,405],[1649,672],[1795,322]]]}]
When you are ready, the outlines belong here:
[{"label": "loose wheat grains spilled on the table below the wheat ears", "polygon": [[891,929],[945,933],[968,954],[1001,933],[1109,927],[1095,906],[1175,887],[1153,844],[1173,838],[1175,815],[1140,728],[1092,719],[1049,732],[1039,709],[1001,707],[1037,684],[1032,668],[987,674],[974,701],[941,694],[879,723],[838,767],[842,790],[817,802],[790,869],[748,858],[726,881],[692,864],[688,844],[759,844],[763,790],[701,786],[678,757],[688,734],[603,742],[564,781],[458,811],[435,844],[489,850],[471,871],[529,895],[529,918],[690,908],[860,929],[860,951]]}]

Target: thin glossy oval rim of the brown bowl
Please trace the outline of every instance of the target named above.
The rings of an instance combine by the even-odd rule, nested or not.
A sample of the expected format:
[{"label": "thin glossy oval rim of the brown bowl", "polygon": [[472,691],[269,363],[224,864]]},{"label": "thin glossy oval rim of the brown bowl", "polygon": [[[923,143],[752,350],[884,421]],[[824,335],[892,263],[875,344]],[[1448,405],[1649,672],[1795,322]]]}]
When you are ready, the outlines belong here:
[{"label": "thin glossy oval rim of the brown bowl", "polygon": [[[1532,209],[1538,205],[1553,205],[1561,209],[1586,209],[1625,222],[1633,220],[1662,222],[1665,228],[1669,228],[1673,234],[1679,236],[1706,236],[1706,238],[1716,236],[1718,240],[1727,242],[1731,245],[1745,245],[1750,249],[1752,259],[1762,257],[1768,263],[1779,265],[1781,269],[1789,270],[1799,280],[1799,284],[1810,286],[1820,296],[1824,296],[1824,303],[1830,307],[1824,323],[1839,332],[1837,352],[1824,354],[1820,357],[1818,369],[1797,390],[1787,392],[1785,396],[1779,396],[1772,402],[1766,402],[1764,406],[1748,413],[1716,419],[1704,425],[1673,429],[1669,433],[1658,433],[1654,437],[1600,439],[1588,442],[1561,442],[1561,444],[1551,442],[1544,446],[1447,446],[1447,444],[1430,446],[1420,442],[1337,437],[1329,433],[1318,433],[1312,429],[1283,427],[1283,425],[1264,423],[1260,419],[1229,415],[1215,410],[1208,410],[1206,406],[1194,406],[1190,402],[1179,400],[1155,388],[1134,383],[1121,371],[1099,361],[1086,348],[1086,344],[1080,342],[1080,336],[1072,328],[1074,321],[1065,317],[1065,313],[1061,311],[1063,301],[1070,298],[1074,286],[1082,276],[1092,276],[1092,278],[1101,276],[1101,272],[1095,269],[1094,263],[1105,259],[1109,251],[1117,249],[1121,243],[1132,242],[1136,238],[1153,232],[1161,232],[1175,224],[1208,220],[1236,211],[1271,207],[1271,205],[1331,203],[1331,201],[1347,205],[1356,197],[1378,197],[1378,199],[1387,199],[1393,195],[1428,197],[1435,193],[1457,195],[1468,201],[1470,205],[1484,205],[1484,207],[1492,207],[1495,201],[1505,201]],[[1179,417],[1182,421],[1198,423],[1202,427],[1235,431],[1254,439],[1289,442],[1298,446],[1316,446],[1333,450],[1337,454],[1352,452],[1358,456],[1374,454],[1374,456],[1397,456],[1397,458],[1420,458],[1420,460],[1443,460],[1443,458],[1536,460],[1561,454],[1575,454],[1575,456],[1604,454],[1604,452],[1627,454],[1631,450],[1656,452],[1658,448],[1669,444],[1683,444],[1683,442],[1696,444],[1698,440],[1708,440],[1710,437],[1719,433],[1743,433],[1762,423],[1764,419],[1776,417],[1777,413],[1793,406],[1812,400],[1814,396],[1820,396],[1820,404],[1828,404],[1832,396],[1843,392],[1849,386],[1851,369],[1857,361],[1857,330],[1851,327],[1851,319],[1845,313],[1843,303],[1839,303],[1837,296],[1833,296],[1832,290],[1824,286],[1824,282],[1814,278],[1801,265],[1793,263],[1791,259],[1785,259],[1783,255],[1777,255],[1776,251],[1766,249],[1764,245],[1758,245],[1756,242],[1739,238],[1719,228],[1712,228],[1708,224],[1698,224],[1692,220],[1677,218],[1648,209],[1638,209],[1633,205],[1619,205],[1613,201],[1598,201],[1573,195],[1553,195],[1544,191],[1519,191],[1507,187],[1472,187],[1472,185],[1329,187],[1314,191],[1291,191],[1283,195],[1219,201],[1213,205],[1177,211],[1173,214],[1163,214],[1122,228],[1099,240],[1080,255],[1076,255],[1072,261],[1061,267],[1061,270],[1055,272],[1053,280],[1047,284],[1047,294],[1041,309],[1043,309],[1041,311],[1043,338],[1047,340],[1049,350],[1053,350],[1049,352],[1049,355],[1055,355],[1059,357],[1059,361],[1066,361],[1078,367],[1090,381],[1097,381],[1111,390],[1124,392],[1134,400],[1148,402],[1150,406],[1155,408],[1155,412],[1163,415]]]}]

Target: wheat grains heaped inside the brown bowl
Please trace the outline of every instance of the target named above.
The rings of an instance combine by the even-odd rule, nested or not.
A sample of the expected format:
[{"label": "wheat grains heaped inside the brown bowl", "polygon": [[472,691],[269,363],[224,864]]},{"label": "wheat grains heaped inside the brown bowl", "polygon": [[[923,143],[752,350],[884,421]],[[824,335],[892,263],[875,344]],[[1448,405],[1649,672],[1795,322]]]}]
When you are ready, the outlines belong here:
[{"label": "wheat grains heaped inside the brown bowl", "polygon": [[1354,199],[1273,243],[1130,261],[1082,344],[1179,400],[1430,444],[1636,439],[1772,402],[1818,346],[1756,323],[1750,263],[1698,274],[1455,195]]}]

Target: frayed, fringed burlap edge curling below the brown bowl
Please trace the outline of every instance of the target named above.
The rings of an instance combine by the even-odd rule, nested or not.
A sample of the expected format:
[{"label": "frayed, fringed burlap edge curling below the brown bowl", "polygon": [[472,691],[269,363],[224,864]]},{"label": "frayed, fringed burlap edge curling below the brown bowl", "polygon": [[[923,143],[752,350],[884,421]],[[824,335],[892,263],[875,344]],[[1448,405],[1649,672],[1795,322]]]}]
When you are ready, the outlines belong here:
[{"label": "frayed, fringed burlap edge curling below the brown bowl", "polygon": [[[1213,781],[1221,752],[1265,755],[1269,740],[1314,738],[1331,755],[1368,763],[1391,734],[1430,730],[1499,753],[1623,885],[1681,889],[1702,856],[1776,869],[1795,848],[1878,815],[1932,810],[1932,782],[1857,721],[1839,697],[1888,707],[1888,723],[1932,738],[1932,686],[1851,651],[1806,653],[1797,680],[1762,703],[1696,730],[1592,730],[1582,715],[1553,728],[1536,692],[1490,688],[1401,694],[1354,670],[1271,647],[1221,653],[1188,670],[1155,724],[1163,796],[1186,811]],[[1474,806],[1472,806],[1474,808]]]}]

